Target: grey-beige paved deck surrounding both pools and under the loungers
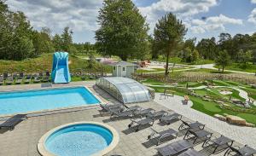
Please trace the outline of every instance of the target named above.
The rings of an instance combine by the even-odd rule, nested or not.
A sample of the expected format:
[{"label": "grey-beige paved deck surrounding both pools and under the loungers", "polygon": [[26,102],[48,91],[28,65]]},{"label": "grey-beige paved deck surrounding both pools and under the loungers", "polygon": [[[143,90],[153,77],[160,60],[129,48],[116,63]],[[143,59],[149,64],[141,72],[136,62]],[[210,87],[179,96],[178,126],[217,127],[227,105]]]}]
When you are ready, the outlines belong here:
[{"label": "grey-beige paved deck surrounding both pools and under the loungers", "polygon": [[[73,86],[73,85],[85,85],[92,90],[92,92],[98,95],[104,101],[110,101],[112,103],[119,103],[113,99],[111,95],[108,95],[107,92],[97,88],[95,85],[95,81],[91,82],[77,82],[71,84],[58,84],[57,86]],[[6,90],[26,90],[26,89],[35,89],[41,88],[40,84],[30,84],[30,85],[14,85],[14,86],[1,86],[0,91]],[[137,104],[129,104],[128,106],[139,105],[144,108],[154,108],[156,111],[166,110],[169,113],[172,113],[171,103],[166,103],[163,105],[157,103],[158,95],[156,96],[155,101],[142,102]],[[170,100],[170,99],[169,99]],[[169,101],[163,100],[163,101]],[[174,109],[174,107],[172,107]],[[190,108],[191,109],[191,108]],[[75,108],[69,110],[61,110],[54,111],[49,113],[37,113],[30,115],[28,119],[21,122],[17,126],[15,126],[15,130],[1,130],[0,131],[0,155],[2,156],[39,156],[37,150],[37,143],[41,136],[43,136],[47,131],[52,130],[56,126],[61,124],[67,124],[72,122],[79,121],[95,121],[108,124],[113,126],[119,132],[119,144],[117,147],[113,149],[111,153],[107,155],[157,155],[157,147],[163,147],[168,143],[176,142],[177,140],[183,139],[184,130],[180,130],[178,132],[178,137],[176,139],[168,140],[168,142],[164,142],[159,146],[156,146],[154,140],[148,141],[147,137],[151,134],[151,130],[148,127],[143,127],[138,132],[135,132],[133,129],[128,129],[128,124],[131,123],[130,119],[109,119],[109,116],[101,116],[100,115],[101,108],[99,106],[93,107],[83,107],[83,108]],[[182,113],[182,112],[179,112]],[[184,120],[199,120],[198,118],[186,118],[187,115],[184,115]],[[4,119],[4,118],[2,118]],[[201,120],[199,120],[201,121]],[[0,121],[2,123],[3,121]],[[180,121],[174,122],[169,125],[160,124],[157,120],[154,122],[152,126],[154,130],[167,130],[172,128],[173,130],[178,130]],[[210,123],[207,123],[206,130],[209,130],[213,133],[214,136],[220,136],[217,130],[213,130],[210,126]],[[216,126],[218,127],[218,125]],[[222,129],[219,127],[219,129]],[[236,131],[230,130],[230,133],[234,133],[234,138],[236,140]],[[248,134],[250,135],[250,134]],[[248,137],[247,137],[248,138]],[[246,142],[250,142],[253,138],[249,138]],[[204,153],[205,155],[211,155],[212,148],[202,148],[202,143],[198,143],[195,145],[195,150],[200,151],[200,153]],[[241,146],[239,142],[235,142],[235,145]],[[224,151],[225,152],[225,151]],[[214,154],[214,155],[224,155],[224,152]]]}]

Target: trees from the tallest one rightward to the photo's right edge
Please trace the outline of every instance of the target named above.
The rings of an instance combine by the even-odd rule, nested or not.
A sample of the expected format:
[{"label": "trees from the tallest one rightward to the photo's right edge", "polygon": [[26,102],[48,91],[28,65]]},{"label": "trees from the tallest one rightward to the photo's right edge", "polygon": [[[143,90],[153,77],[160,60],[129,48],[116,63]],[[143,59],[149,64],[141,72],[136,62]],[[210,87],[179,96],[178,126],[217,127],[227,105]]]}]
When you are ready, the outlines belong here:
[{"label": "trees from the tallest one rightward to the photo's right edge", "polygon": [[196,38],[184,40],[187,28],[175,14],[167,13],[154,26],[153,36],[148,35],[146,17],[131,0],[104,0],[99,11],[96,31],[96,49],[102,55],[118,55],[127,59],[157,59],[160,55],[168,62],[172,56],[184,62],[202,59],[216,61],[226,66],[230,61],[242,63],[256,62],[256,33],[253,35],[221,33],[216,38]]}]

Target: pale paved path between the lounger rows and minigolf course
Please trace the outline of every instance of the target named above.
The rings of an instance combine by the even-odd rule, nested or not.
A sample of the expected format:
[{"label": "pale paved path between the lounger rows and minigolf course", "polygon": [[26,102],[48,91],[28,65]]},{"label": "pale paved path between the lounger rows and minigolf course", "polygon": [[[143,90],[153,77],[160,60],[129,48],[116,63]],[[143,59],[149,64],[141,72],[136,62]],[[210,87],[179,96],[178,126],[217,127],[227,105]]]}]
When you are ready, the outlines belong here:
[{"label": "pale paved path between the lounger rows and minigolf course", "polygon": [[227,124],[217,118],[213,118],[205,113],[196,111],[195,109],[190,108],[190,106],[192,106],[191,101],[189,101],[189,105],[183,105],[183,97],[181,96],[174,95],[173,97],[160,100],[160,94],[156,93],[154,101],[177,113],[180,113],[186,118],[206,124],[208,128],[215,130],[224,136],[230,137],[236,142],[256,148],[256,128]]}]

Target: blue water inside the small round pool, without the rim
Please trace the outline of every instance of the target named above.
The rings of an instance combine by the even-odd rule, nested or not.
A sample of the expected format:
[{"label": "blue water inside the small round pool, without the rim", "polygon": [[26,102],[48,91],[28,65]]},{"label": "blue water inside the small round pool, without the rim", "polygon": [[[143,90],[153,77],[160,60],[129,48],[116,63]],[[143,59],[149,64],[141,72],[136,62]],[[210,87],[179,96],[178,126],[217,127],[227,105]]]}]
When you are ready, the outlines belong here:
[{"label": "blue water inside the small round pool, without the rim", "polygon": [[96,124],[74,124],[51,134],[44,146],[59,156],[87,156],[108,147],[112,133]]}]

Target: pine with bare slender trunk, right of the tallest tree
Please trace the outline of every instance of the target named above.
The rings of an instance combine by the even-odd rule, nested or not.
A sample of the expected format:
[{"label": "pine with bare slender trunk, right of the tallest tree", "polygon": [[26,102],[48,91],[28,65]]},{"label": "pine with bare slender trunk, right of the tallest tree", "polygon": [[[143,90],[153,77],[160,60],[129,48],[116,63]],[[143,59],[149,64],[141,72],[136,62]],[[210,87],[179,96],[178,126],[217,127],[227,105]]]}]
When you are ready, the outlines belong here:
[{"label": "pine with bare slender trunk, right of the tallest tree", "polygon": [[166,75],[168,75],[169,57],[183,40],[187,29],[182,20],[177,20],[172,13],[163,16],[155,25],[154,42],[166,55]]}]

